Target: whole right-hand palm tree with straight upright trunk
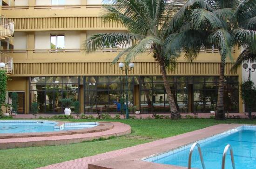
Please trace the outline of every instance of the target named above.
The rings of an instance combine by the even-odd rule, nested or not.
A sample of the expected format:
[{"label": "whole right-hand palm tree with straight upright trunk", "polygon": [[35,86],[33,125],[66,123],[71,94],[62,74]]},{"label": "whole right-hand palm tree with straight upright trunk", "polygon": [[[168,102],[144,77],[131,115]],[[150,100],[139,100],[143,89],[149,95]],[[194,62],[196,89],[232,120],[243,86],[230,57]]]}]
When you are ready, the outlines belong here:
[{"label": "whole right-hand palm tree with straight upright trunk", "polygon": [[[207,0],[211,11],[197,9],[192,13],[193,24],[214,24],[207,29],[209,44],[220,50],[221,63],[216,106],[216,119],[225,119],[224,113],[224,72],[227,57],[232,60],[231,48],[235,45],[246,47],[241,57],[252,55],[255,46],[256,31],[256,0]],[[207,22],[212,20],[212,23]],[[195,22],[197,21],[197,22]],[[216,26],[215,26],[216,25]],[[237,64],[235,64],[237,68]]]}]

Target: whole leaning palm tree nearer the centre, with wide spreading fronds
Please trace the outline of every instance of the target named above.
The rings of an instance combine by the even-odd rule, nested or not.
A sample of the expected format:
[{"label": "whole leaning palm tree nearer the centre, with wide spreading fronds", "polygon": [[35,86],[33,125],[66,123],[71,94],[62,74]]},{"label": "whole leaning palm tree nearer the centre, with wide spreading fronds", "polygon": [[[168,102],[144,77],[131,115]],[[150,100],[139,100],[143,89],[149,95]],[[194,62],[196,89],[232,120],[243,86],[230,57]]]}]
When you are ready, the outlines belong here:
[{"label": "whole leaning palm tree nearer the centre, with wide spreading fronds", "polygon": [[191,29],[189,17],[193,7],[211,8],[205,0],[187,0],[177,9],[176,0],[110,0],[105,8],[105,21],[115,21],[126,26],[127,33],[101,33],[88,38],[84,43],[88,52],[102,48],[120,48],[114,59],[117,63],[123,59],[129,63],[136,56],[147,52],[152,53],[158,62],[164,87],[168,96],[171,118],[177,119],[180,113],[175,104],[167,71],[173,70],[176,58],[181,50],[187,59],[192,60],[204,44],[204,31]]}]

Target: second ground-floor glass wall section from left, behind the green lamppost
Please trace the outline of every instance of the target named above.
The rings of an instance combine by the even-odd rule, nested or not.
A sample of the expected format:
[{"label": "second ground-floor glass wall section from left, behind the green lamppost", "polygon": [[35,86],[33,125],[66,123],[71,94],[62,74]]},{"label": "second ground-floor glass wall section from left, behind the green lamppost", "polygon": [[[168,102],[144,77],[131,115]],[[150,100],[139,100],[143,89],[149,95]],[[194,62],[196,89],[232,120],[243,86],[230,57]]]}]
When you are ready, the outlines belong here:
[{"label": "second ground-floor glass wall section from left, behind the green lamppost", "polygon": [[[126,109],[125,76],[85,76],[85,113],[124,113]],[[128,77],[128,108],[133,111],[134,77]]]}]

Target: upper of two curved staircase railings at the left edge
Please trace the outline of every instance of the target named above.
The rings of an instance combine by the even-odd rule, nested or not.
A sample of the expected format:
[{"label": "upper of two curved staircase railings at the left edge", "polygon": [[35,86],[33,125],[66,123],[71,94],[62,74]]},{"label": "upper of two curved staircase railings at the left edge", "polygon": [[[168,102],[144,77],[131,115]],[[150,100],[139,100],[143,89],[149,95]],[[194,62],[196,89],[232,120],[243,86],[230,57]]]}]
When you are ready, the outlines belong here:
[{"label": "upper of two curved staircase railings at the left edge", "polygon": [[0,16],[0,38],[5,39],[13,35],[14,22],[11,19]]}]

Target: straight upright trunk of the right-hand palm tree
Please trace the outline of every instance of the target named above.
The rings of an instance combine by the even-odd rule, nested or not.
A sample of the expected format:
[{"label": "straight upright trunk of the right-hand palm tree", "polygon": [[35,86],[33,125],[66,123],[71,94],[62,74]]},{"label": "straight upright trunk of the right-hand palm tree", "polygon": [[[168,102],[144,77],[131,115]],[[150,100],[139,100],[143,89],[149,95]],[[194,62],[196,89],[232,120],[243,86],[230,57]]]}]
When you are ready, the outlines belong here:
[{"label": "straight upright trunk of the right-hand palm tree", "polygon": [[215,119],[218,119],[218,120],[225,119],[225,112],[224,112],[224,71],[225,71],[225,63],[221,63],[220,64],[218,100],[217,100],[216,116],[215,116]]}]

